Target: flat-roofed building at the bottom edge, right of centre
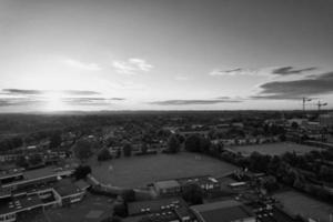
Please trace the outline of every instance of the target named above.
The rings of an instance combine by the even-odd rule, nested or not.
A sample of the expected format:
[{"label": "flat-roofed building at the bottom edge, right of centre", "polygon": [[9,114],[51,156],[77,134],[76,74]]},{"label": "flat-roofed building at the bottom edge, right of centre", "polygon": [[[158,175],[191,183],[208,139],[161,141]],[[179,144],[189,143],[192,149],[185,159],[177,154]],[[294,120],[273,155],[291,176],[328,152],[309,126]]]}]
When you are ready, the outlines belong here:
[{"label": "flat-roofed building at the bottom edge, right of centre", "polygon": [[238,201],[220,201],[190,208],[200,222],[255,222],[254,213]]}]

